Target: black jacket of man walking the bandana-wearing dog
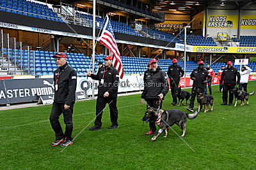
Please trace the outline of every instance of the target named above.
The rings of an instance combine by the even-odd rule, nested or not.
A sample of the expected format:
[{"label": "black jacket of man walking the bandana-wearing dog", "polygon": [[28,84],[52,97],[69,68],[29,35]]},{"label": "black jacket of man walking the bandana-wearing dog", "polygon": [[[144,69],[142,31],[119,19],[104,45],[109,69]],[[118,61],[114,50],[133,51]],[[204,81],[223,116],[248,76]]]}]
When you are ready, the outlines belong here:
[{"label": "black jacket of man walking the bandana-wearing dog", "polygon": [[150,69],[145,80],[146,85],[141,94],[142,99],[159,98],[159,94],[166,96],[168,93],[169,85],[167,77],[161,67],[157,67],[156,71]]}]

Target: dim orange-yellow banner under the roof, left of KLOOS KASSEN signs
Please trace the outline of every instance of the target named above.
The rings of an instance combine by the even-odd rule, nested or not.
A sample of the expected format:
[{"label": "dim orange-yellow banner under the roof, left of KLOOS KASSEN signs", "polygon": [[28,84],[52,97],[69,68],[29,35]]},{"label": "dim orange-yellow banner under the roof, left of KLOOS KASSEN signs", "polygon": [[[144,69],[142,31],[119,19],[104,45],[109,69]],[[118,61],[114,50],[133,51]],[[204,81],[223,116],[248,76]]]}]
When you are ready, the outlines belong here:
[{"label": "dim orange-yellow banner under the roof, left of KLOOS KASSEN signs", "polygon": [[189,24],[188,21],[172,21],[166,20],[163,23],[155,24],[156,29],[168,31],[170,29],[181,29],[184,24]]}]

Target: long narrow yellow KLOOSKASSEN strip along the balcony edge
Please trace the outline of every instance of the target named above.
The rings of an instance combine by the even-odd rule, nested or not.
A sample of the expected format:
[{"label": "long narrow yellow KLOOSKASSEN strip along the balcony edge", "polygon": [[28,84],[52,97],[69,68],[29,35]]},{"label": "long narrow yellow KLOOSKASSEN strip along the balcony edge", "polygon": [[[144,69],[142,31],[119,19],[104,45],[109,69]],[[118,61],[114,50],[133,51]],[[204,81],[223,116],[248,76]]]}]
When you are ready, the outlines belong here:
[{"label": "long narrow yellow KLOOSKASSEN strip along the balcony edge", "polygon": [[244,46],[193,46],[196,53],[256,53],[256,47]]}]

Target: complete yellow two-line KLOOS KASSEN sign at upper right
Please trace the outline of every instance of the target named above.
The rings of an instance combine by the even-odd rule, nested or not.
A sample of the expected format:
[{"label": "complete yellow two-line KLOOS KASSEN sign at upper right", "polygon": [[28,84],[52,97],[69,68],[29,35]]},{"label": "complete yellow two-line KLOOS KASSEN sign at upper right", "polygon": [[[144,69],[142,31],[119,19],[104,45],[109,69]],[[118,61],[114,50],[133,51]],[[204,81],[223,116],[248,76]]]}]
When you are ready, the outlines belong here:
[{"label": "complete yellow two-line KLOOS KASSEN sign at upper right", "polygon": [[207,27],[237,29],[237,15],[208,15]]}]

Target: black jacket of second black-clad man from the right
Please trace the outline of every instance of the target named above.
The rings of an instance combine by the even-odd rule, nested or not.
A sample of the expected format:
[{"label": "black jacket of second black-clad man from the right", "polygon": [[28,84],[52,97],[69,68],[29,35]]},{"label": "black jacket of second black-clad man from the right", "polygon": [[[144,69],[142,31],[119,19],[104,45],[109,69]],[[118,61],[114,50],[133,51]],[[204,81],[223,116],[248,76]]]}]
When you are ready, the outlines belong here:
[{"label": "black jacket of second black-clad man from the right", "polygon": [[205,89],[205,83],[204,81],[207,80],[207,82],[212,81],[212,76],[209,74],[209,72],[206,69],[194,69],[192,73],[190,74],[190,78],[194,80],[193,81],[193,87],[196,89]]}]

